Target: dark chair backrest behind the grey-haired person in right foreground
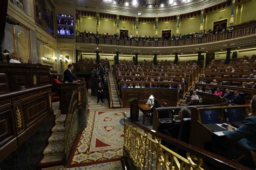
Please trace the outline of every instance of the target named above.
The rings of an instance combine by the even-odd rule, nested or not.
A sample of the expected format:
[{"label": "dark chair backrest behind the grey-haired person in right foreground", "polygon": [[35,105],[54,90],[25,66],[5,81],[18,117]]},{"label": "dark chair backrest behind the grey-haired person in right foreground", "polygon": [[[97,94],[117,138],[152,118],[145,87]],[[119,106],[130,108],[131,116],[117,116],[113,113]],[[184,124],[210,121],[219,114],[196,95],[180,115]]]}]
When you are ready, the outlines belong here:
[{"label": "dark chair backrest behind the grey-haired person in right foreground", "polygon": [[191,122],[191,118],[184,118],[181,121],[180,129],[179,129],[178,139],[186,143],[188,143],[190,139],[190,122]]}]

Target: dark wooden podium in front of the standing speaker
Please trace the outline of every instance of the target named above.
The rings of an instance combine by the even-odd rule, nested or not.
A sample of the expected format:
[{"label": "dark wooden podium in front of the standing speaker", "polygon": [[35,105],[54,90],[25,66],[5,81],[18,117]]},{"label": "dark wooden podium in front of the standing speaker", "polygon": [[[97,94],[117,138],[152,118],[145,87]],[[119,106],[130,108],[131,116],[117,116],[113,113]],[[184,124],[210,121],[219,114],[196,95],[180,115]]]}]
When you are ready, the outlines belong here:
[{"label": "dark wooden podium in front of the standing speaker", "polygon": [[59,107],[61,114],[66,114],[69,109],[69,104],[73,90],[77,90],[77,104],[78,109],[81,109],[86,105],[86,82],[80,83],[60,83],[60,98],[59,98]]}]

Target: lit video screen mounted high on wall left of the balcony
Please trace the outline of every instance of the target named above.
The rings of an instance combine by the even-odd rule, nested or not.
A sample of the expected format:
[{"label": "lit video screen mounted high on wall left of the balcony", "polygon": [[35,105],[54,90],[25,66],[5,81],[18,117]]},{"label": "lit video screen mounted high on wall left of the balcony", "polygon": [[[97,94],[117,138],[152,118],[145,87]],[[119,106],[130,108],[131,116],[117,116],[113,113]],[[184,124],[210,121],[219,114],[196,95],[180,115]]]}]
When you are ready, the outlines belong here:
[{"label": "lit video screen mounted high on wall left of the balcony", "polygon": [[57,14],[57,37],[75,38],[74,17],[71,15]]}]

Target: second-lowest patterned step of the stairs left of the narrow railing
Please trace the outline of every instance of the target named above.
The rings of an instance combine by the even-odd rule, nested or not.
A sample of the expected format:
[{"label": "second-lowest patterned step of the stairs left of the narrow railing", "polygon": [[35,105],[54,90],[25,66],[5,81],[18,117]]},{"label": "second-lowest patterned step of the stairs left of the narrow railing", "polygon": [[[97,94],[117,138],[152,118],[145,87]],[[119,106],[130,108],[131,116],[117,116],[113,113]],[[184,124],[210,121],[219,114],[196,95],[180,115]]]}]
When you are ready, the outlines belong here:
[{"label": "second-lowest patterned step of the stairs left of the narrow railing", "polygon": [[44,155],[58,155],[64,152],[64,142],[50,143],[44,149]]}]

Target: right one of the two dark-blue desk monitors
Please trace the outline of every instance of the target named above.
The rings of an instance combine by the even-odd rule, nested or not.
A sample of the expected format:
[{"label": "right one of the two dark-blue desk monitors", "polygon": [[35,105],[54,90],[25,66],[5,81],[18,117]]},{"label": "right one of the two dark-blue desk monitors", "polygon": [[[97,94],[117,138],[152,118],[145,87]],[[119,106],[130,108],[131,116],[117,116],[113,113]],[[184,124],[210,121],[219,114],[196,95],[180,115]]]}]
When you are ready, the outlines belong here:
[{"label": "right one of the two dark-blue desk monitors", "polygon": [[227,109],[227,122],[241,122],[244,114],[244,108]]}]

